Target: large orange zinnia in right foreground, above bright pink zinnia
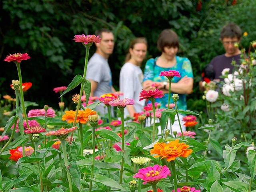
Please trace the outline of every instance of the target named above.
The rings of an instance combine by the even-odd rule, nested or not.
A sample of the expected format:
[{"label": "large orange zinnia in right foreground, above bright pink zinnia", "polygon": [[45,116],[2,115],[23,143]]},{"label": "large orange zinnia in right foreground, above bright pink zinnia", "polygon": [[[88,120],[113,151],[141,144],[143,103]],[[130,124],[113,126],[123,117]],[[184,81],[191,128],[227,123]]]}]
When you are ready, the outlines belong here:
[{"label": "large orange zinnia in right foreground, above bright pink zinnia", "polygon": [[182,156],[187,157],[193,151],[192,149],[188,149],[188,145],[179,143],[179,140],[176,139],[174,141],[166,143],[156,143],[154,144],[154,148],[150,150],[150,154],[157,154],[154,157],[167,158],[167,161],[173,161],[176,157]]}]

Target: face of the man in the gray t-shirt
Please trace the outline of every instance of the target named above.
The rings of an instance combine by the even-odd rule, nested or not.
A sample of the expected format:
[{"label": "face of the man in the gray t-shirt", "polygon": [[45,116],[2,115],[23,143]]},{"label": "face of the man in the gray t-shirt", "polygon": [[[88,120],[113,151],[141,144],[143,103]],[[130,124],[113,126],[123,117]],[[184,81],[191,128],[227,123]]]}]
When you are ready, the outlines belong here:
[{"label": "face of the man in the gray t-shirt", "polygon": [[104,57],[108,58],[114,50],[114,35],[112,32],[102,32],[102,40],[100,43],[96,43],[96,46]]}]

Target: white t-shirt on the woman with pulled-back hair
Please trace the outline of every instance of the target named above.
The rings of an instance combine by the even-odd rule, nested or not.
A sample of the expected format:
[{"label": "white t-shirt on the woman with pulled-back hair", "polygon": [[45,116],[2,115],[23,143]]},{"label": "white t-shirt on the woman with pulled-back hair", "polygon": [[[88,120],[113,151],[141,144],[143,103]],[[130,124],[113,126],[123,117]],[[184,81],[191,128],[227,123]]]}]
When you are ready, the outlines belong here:
[{"label": "white t-shirt on the woman with pulled-back hair", "polygon": [[[142,91],[143,73],[139,66],[125,63],[120,71],[120,92],[124,95],[120,98],[134,99],[134,109],[137,113],[142,112],[145,100],[139,101],[139,93]],[[124,108],[124,117],[128,116],[127,108]]]}]

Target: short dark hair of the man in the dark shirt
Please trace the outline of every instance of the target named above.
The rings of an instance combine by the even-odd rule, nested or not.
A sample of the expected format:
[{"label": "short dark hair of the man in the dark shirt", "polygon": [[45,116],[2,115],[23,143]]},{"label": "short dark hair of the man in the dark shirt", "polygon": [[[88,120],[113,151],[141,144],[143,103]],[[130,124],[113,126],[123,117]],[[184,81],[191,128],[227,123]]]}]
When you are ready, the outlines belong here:
[{"label": "short dark hair of the man in the dark shirt", "polygon": [[226,24],[221,32],[220,32],[220,38],[238,38],[238,40],[240,40],[240,38],[242,37],[242,30],[241,28],[235,24],[235,23],[228,23]]}]

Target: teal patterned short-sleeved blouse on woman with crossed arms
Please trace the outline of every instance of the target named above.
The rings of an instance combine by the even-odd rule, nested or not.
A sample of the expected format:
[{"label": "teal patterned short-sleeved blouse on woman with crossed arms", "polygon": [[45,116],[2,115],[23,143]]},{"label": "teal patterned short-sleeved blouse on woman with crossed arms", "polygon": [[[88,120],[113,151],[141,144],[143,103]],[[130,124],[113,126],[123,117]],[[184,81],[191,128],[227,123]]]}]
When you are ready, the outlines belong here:
[{"label": "teal patterned short-sleeved blouse on woman with crossed arms", "polygon": [[[168,78],[166,76],[159,76],[161,71],[169,71],[169,70],[176,70],[180,72],[181,77],[174,77],[172,78],[172,82],[177,83],[181,78],[184,76],[188,77],[194,77],[193,72],[192,72],[192,67],[190,60],[185,57],[179,57],[176,56],[176,64],[173,67],[168,67],[168,68],[163,68],[160,66],[156,65],[156,60],[158,57],[151,58],[146,62],[145,70],[144,70],[144,80],[152,80],[154,82],[163,82],[166,81],[168,82]],[[172,95],[174,93],[171,92],[171,98],[170,98],[170,103],[174,103],[172,100]],[[186,95],[185,94],[178,94],[179,95],[179,100],[177,102],[177,107],[178,109],[187,109],[187,104],[186,104]],[[168,104],[168,93],[164,94],[164,97],[162,98],[156,98],[156,102],[161,103],[161,108],[166,108],[166,104]]]}]

